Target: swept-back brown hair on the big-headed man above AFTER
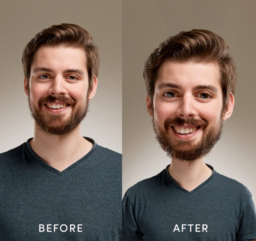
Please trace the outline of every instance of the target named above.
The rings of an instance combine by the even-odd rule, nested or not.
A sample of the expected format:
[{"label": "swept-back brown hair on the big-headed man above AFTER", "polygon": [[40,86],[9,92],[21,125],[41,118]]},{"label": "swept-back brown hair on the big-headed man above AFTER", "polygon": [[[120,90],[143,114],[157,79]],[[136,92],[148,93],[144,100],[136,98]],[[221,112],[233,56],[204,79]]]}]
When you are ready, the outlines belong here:
[{"label": "swept-back brown hair on the big-headed man above AFTER", "polygon": [[220,85],[223,94],[223,111],[226,111],[229,94],[235,94],[237,73],[236,66],[229,55],[228,45],[217,34],[193,29],[169,37],[152,52],[144,66],[143,77],[149,98],[154,97],[155,81],[164,61],[174,62],[215,62],[220,70]]}]

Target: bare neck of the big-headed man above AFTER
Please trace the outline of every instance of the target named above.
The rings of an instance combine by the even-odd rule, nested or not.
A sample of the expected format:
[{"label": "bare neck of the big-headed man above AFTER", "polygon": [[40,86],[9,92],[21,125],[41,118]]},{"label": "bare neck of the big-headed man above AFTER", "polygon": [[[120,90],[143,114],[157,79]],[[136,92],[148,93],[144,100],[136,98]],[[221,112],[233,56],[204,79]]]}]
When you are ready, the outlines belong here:
[{"label": "bare neck of the big-headed man above AFTER", "polygon": [[204,163],[203,159],[194,161],[172,159],[168,171],[173,179],[188,191],[192,191],[198,187],[213,173]]}]

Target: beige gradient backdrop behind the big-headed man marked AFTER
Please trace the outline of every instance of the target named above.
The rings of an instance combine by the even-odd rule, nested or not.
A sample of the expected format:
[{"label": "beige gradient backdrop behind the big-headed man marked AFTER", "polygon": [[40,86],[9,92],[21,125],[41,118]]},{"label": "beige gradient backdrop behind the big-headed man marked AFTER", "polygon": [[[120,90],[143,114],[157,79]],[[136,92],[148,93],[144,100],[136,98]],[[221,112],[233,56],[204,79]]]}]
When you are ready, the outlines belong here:
[{"label": "beige gradient backdrop behind the big-headed man marked AFTER", "polygon": [[122,9],[123,192],[170,163],[155,140],[146,110],[144,62],[168,36],[198,28],[223,37],[238,72],[233,115],[205,162],[242,182],[256,203],[256,1],[123,1]]}]

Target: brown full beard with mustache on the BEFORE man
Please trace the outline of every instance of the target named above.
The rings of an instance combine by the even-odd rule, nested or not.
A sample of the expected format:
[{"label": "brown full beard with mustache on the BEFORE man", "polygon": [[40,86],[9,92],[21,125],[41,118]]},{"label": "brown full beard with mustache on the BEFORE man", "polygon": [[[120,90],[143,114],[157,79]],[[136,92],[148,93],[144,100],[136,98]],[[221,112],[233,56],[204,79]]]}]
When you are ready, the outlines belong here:
[{"label": "brown full beard with mustache on the BEFORE man", "polygon": [[[43,103],[52,103],[56,100],[61,102],[70,103],[73,108],[71,115],[64,119],[63,115],[50,115],[46,116],[42,111]],[[31,116],[35,120],[36,125],[45,133],[51,135],[64,135],[74,130],[85,118],[88,112],[89,100],[88,93],[86,96],[86,103],[75,108],[77,102],[73,98],[61,96],[56,98],[54,96],[47,96],[46,98],[40,98],[38,106],[31,104],[30,96],[28,95],[28,103],[31,112]]]}]

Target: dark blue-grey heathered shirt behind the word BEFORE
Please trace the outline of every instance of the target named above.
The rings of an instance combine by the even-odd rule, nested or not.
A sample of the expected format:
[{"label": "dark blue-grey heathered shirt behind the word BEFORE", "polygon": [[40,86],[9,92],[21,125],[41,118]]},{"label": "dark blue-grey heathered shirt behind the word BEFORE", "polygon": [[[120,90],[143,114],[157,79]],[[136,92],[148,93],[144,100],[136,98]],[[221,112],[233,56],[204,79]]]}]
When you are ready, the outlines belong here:
[{"label": "dark blue-grey heathered shirt behind the word BEFORE", "polygon": [[30,139],[0,154],[0,240],[120,240],[121,154],[86,139],[90,152],[61,172],[37,156]]}]

